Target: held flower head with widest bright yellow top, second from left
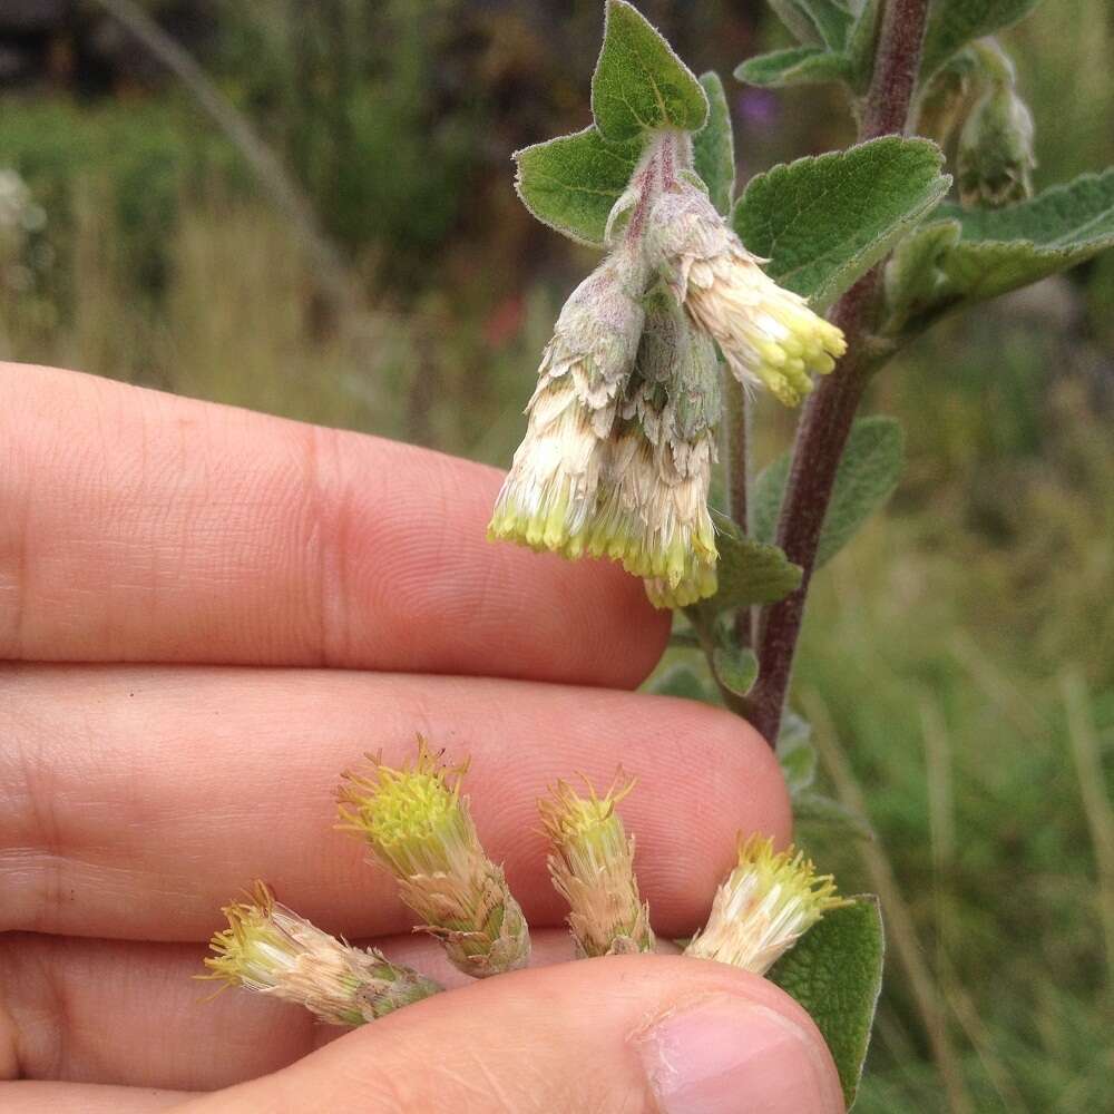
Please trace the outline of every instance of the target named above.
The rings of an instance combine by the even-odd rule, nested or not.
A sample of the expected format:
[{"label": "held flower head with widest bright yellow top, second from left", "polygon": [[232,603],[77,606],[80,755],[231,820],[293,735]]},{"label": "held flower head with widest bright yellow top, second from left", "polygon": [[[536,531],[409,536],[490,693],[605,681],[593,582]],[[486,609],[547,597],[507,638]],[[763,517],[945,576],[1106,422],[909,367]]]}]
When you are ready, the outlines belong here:
[{"label": "held flower head with widest bright yellow top, second from left", "polygon": [[483,853],[460,795],[465,768],[449,769],[419,739],[400,770],[372,759],[370,774],[346,773],[340,827],[363,837],[398,879],[402,900],[438,937],[451,962],[483,978],[525,967],[530,937],[502,869]]}]

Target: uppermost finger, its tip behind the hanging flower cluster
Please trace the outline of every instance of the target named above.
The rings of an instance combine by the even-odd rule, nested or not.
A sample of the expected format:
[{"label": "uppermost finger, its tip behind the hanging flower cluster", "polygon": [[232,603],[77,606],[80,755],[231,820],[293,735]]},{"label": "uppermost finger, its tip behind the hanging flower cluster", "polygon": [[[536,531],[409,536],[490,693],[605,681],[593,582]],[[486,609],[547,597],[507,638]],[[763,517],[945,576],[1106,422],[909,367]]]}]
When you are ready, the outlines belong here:
[{"label": "uppermost finger, its tip behind the hanging flower cluster", "polygon": [[0,364],[0,657],[633,686],[668,625],[616,566],[485,538],[436,452]]}]

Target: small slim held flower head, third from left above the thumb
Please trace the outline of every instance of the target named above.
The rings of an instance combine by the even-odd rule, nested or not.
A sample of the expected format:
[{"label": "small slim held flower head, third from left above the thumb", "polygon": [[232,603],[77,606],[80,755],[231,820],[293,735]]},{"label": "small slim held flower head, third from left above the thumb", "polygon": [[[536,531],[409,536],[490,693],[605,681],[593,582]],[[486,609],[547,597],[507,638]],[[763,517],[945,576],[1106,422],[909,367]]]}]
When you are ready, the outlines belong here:
[{"label": "small slim held flower head, third from left above the thumb", "polygon": [[634,837],[615,811],[633,785],[613,785],[597,797],[589,784],[588,795],[580,797],[558,781],[551,797],[538,802],[553,847],[549,877],[568,901],[568,926],[580,956],[654,950],[649,907],[634,876]]}]

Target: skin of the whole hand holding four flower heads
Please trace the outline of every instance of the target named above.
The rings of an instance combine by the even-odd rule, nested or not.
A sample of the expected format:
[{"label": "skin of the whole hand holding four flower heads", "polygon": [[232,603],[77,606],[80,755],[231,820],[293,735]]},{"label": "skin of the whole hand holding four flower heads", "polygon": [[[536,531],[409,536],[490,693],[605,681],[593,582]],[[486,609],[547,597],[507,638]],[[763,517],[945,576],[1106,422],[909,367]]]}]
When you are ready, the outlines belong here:
[{"label": "skin of the whole hand holding four flower heads", "polygon": [[[108,380],[0,364],[0,1108],[842,1110],[776,987],[675,955],[568,962],[536,800],[623,803],[663,938],[736,832],[790,836],[741,720],[632,690],[667,616],[637,580],[485,539],[494,469]],[[465,985],[334,830],[342,769],[417,732],[471,756],[480,837],[538,966]],[[255,878],[450,986],[361,1029],[205,1001]]]}]

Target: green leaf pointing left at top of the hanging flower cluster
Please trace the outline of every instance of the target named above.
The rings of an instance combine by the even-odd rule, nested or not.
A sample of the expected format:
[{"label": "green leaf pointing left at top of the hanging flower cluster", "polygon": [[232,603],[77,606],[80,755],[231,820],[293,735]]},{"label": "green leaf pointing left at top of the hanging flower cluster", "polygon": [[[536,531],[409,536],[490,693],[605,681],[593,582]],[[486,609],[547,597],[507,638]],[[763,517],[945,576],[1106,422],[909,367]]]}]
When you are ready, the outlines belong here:
[{"label": "green leaf pointing left at top of the hanging flower cluster", "polygon": [[631,180],[641,148],[641,143],[609,143],[594,127],[524,147],[515,152],[515,188],[543,224],[602,247],[608,214]]}]

